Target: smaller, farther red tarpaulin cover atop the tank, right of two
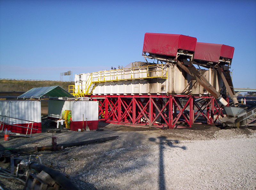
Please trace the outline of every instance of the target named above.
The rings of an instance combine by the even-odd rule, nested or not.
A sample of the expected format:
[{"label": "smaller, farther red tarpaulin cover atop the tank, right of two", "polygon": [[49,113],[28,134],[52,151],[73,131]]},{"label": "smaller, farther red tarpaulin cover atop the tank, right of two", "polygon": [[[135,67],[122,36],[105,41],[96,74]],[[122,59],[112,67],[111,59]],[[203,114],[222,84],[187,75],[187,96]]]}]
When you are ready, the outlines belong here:
[{"label": "smaller, farther red tarpaulin cover atop the tank, right of two", "polygon": [[232,59],[234,50],[228,45],[197,42],[194,59],[219,62],[220,57]]}]

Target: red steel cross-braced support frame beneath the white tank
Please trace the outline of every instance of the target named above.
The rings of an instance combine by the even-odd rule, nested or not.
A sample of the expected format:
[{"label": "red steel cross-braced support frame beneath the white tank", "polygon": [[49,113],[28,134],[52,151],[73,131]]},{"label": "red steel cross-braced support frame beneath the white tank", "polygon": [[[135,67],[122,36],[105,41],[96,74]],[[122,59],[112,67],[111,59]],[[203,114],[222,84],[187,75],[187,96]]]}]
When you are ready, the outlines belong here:
[{"label": "red steel cross-braced support frame beneath the white tank", "polygon": [[[108,123],[159,128],[212,125],[222,108],[212,96],[192,95],[92,95],[99,101],[99,120]],[[202,100],[202,102],[197,102]]]}]

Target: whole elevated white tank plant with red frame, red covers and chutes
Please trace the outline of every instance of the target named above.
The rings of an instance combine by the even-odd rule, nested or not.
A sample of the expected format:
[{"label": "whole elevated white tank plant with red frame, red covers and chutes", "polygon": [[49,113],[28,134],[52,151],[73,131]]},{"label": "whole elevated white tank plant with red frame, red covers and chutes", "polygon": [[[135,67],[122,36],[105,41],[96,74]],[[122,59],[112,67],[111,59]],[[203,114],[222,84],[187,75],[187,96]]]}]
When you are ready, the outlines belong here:
[{"label": "whole elevated white tank plant with red frame, red covers and chutes", "polygon": [[75,75],[69,92],[99,101],[99,118],[110,123],[169,129],[213,124],[224,116],[228,95],[238,105],[229,71],[233,54],[234,47],[191,36],[146,33],[146,62]]}]

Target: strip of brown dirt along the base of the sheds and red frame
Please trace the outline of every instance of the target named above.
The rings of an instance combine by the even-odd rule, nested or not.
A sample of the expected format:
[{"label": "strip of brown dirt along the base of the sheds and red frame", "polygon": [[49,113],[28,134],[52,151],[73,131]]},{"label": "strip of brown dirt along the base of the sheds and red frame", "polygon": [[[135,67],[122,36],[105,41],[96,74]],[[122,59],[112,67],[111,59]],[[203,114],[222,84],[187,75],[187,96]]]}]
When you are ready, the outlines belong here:
[{"label": "strip of brown dirt along the base of the sheds and red frame", "polygon": [[[163,136],[172,140],[210,140],[218,135],[223,135],[224,133],[229,134],[230,137],[236,134],[245,134],[251,135],[252,131],[256,130],[256,126],[246,128],[240,127],[237,128],[220,128],[210,125],[194,124],[191,128],[179,128],[179,129],[161,129],[155,127],[131,127],[124,125],[116,125],[105,122],[99,122],[99,131],[69,131],[69,130],[57,130],[55,123],[44,123],[42,122],[42,133],[32,134],[31,138],[20,137],[20,136],[9,136],[8,141],[4,141],[4,134],[0,134],[0,145],[5,148],[19,148],[21,146],[33,147],[33,146],[48,146],[51,145],[52,136],[57,137],[57,143],[67,143],[67,142],[76,142],[81,141],[82,139],[90,140],[97,139],[108,136],[115,136],[124,133],[132,133],[144,136],[145,139],[148,137],[159,137]],[[56,131],[55,131],[56,130]],[[235,134],[230,133],[229,131],[235,131]],[[49,132],[49,131],[53,131]],[[226,131],[226,132],[224,132]],[[56,132],[56,133],[55,133]],[[136,136],[136,135],[135,135]],[[71,138],[72,137],[72,138]],[[142,138],[143,139],[143,138]],[[140,139],[140,140],[142,140]]]}]

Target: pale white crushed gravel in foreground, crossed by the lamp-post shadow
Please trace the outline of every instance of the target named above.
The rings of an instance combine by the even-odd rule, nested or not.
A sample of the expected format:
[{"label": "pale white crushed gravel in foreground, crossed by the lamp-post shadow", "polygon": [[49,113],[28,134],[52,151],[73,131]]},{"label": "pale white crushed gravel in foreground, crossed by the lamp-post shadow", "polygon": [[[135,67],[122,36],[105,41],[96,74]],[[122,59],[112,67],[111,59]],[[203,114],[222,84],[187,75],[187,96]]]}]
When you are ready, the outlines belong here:
[{"label": "pale white crushed gravel in foreground, crossed by the lamp-post shadow", "polygon": [[255,145],[254,137],[119,149],[103,154],[139,154],[112,161],[95,158],[94,170],[85,166],[80,179],[97,189],[255,189]]}]

